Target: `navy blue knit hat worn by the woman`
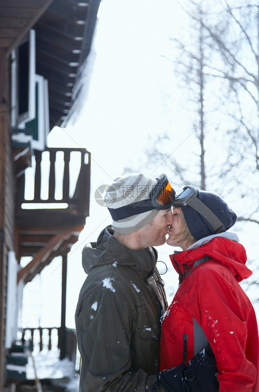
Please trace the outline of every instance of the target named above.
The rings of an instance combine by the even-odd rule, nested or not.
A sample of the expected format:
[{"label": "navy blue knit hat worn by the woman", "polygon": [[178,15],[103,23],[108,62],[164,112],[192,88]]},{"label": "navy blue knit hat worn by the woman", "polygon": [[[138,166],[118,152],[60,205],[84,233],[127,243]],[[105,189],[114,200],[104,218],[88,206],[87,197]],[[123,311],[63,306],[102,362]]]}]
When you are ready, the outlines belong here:
[{"label": "navy blue knit hat worn by the woman", "polygon": [[[197,198],[201,200],[214,214],[228,230],[232,227],[237,220],[237,216],[231,208],[228,207],[226,202],[221,199],[220,196],[215,193],[206,191],[199,191]],[[194,210],[189,205],[183,207],[183,215],[190,233],[196,241],[201,238],[215,234],[212,226],[199,212]]]}]

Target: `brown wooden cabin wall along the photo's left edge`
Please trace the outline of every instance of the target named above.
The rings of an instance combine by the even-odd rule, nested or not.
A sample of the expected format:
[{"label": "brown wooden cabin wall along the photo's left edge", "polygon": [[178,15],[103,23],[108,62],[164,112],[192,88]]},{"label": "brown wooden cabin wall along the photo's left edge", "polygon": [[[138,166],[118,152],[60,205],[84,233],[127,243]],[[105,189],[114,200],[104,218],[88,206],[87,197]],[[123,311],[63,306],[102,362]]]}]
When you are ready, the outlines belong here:
[{"label": "brown wooden cabin wall along the photo's left edge", "polygon": [[5,319],[8,252],[14,250],[15,183],[11,152],[10,69],[0,51],[0,390],[5,382]]}]

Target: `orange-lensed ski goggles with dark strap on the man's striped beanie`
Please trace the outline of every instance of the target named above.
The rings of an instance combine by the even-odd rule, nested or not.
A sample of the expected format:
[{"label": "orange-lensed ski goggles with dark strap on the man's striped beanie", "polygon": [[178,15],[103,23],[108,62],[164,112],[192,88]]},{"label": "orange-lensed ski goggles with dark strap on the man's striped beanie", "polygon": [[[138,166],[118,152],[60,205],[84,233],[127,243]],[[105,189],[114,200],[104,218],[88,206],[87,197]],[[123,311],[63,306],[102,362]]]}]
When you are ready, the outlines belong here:
[{"label": "orange-lensed ski goggles with dark strap on the man's striped beanie", "polygon": [[108,210],[114,221],[129,218],[129,216],[142,214],[142,212],[152,210],[166,210],[172,207],[176,192],[167,180],[166,174],[160,174],[156,178],[157,183],[149,193],[149,199],[136,201],[119,208],[109,208]]}]

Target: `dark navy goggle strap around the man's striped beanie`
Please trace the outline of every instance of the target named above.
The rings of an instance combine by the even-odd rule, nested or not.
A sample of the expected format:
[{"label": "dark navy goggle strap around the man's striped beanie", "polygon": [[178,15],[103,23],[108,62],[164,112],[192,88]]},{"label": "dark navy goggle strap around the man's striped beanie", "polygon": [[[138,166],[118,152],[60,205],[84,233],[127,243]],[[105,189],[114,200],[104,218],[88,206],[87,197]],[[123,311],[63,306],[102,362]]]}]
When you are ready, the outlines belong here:
[{"label": "dark navy goggle strap around the man's striped beanie", "polygon": [[151,198],[147,200],[137,201],[136,203],[132,204],[127,204],[119,208],[108,207],[108,210],[114,221],[129,218],[130,216],[142,214],[142,212],[147,212],[155,209],[156,206],[152,206]]}]

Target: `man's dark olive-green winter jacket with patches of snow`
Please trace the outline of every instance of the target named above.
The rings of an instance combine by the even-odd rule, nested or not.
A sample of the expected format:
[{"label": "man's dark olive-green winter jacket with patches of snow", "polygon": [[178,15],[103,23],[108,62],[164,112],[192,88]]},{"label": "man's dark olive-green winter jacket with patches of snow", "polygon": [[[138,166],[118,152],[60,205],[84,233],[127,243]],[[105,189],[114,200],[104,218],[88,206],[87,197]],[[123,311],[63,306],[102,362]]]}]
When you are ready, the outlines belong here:
[{"label": "man's dark olive-green winter jacket with patches of snow", "polygon": [[88,276],[75,315],[79,390],[147,392],[159,372],[160,318],[167,309],[157,252],[131,250],[112,234],[107,227],[83,249]]}]

